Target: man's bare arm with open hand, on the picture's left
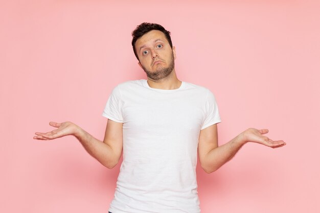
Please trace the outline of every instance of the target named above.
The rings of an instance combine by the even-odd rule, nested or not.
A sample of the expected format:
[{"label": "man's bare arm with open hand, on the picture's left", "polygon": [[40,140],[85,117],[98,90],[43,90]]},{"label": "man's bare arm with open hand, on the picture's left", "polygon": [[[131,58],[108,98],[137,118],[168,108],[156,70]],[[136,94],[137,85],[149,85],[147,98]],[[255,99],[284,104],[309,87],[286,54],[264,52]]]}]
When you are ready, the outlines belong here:
[{"label": "man's bare arm with open hand, on the picture's left", "polygon": [[123,146],[122,123],[108,120],[103,141],[96,139],[72,122],[50,122],[49,124],[58,129],[47,133],[36,132],[33,138],[51,140],[66,135],[74,135],[84,149],[105,167],[112,169],[119,162]]}]

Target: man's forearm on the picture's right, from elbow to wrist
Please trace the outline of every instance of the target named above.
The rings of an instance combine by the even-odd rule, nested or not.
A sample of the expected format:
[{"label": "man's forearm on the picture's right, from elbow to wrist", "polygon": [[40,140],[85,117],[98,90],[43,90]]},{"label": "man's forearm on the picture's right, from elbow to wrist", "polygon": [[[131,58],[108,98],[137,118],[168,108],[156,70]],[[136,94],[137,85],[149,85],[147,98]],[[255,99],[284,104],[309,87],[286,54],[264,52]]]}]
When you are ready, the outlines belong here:
[{"label": "man's forearm on the picture's right, from elbow to wrist", "polygon": [[212,173],[219,169],[224,163],[231,160],[244,144],[242,137],[238,135],[228,143],[212,149],[205,157],[204,171]]}]

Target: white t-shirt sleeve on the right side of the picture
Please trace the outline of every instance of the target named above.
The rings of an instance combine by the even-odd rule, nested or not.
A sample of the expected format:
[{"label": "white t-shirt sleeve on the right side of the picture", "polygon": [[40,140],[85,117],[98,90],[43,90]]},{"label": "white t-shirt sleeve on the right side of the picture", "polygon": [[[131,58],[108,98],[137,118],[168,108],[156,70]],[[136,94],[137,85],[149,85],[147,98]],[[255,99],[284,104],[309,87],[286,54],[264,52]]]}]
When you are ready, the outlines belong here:
[{"label": "white t-shirt sleeve on the right side of the picture", "polygon": [[216,98],[214,97],[214,94],[209,89],[207,93],[207,100],[205,101],[204,107],[205,107],[205,117],[204,117],[201,130],[221,122]]}]

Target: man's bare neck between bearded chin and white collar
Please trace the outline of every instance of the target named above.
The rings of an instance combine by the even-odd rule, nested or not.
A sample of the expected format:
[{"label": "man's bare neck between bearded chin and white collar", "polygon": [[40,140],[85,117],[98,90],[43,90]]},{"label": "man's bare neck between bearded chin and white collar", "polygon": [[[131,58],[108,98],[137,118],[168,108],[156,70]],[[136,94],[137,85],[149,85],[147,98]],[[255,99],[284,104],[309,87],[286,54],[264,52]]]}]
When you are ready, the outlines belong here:
[{"label": "man's bare neck between bearded chin and white collar", "polygon": [[155,89],[178,89],[181,86],[181,81],[177,78],[175,70],[173,69],[169,76],[159,80],[148,78],[149,86]]}]

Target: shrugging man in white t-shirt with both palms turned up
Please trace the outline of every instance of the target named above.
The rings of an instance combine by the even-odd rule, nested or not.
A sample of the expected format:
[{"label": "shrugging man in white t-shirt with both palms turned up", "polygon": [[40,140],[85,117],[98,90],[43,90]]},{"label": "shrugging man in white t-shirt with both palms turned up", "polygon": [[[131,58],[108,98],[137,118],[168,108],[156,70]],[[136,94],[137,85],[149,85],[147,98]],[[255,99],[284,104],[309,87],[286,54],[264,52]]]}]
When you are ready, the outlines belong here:
[{"label": "shrugging man in white t-shirt with both palms turned up", "polygon": [[71,123],[54,123],[56,130],[36,132],[35,139],[76,136],[86,151],[111,169],[123,150],[115,198],[109,212],[200,212],[196,182],[200,164],[212,173],[248,141],[271,148],[285,145],[264,136],[267,129],[249,128],[218,147],[220,122],[214,95],[207,88],[177,79],[170,32],[142,23],[132,32],[132,48],[147,80],[115,87],[103,115],[103,141]]}]

